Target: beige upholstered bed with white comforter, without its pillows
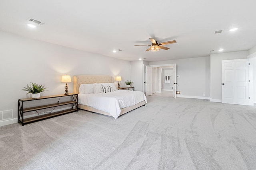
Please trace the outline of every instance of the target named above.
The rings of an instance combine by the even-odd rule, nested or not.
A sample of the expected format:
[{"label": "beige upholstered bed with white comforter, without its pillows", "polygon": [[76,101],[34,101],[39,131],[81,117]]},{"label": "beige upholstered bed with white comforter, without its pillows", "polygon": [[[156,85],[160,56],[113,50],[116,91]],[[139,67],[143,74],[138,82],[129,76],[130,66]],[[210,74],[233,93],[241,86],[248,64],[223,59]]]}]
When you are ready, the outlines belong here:
[{"label": "beige upholstered bed with white comforter, without its pillows", "polygon": [[[79,93],[80,85],[84,84],[107,84],[113,83],[114,77],[107,75],[76,75],[73,76],[73,92],[78,93],[78,108],[91,111],[92,113],[100,113],[108,116],[112,116],[117,119],[120,115],[132,111],[140,106],[145,106],[147,100],[143,92],[128,91],[128,90],[116,90],[114,92],[99,93],[99,94],[83,94]],[[123,97],[120,93],[124,94]],[[129,94],[128,94],[129,93]],[[130,96],[129,96],[130,95]],[[130,100],[131,96],[136,96],[135,101]],[[120,96],[120,98],[118,97]],[[99,98],[98,98],[99,97]],[[123,99],[122,99],[123,98]],[[92,100],[97,100],[98,103],[91,105]],[[123,101],[124,100],[124,101]],[[127,102],[129,101],[129,102]],[[130,102],[132,101],[132,102]],[[109,103],[112,102],[112,103]],[[124,106],[124,103],[129,103],[128,106]],[[102,109],[100,106],[111,106],[106,109]]]}]

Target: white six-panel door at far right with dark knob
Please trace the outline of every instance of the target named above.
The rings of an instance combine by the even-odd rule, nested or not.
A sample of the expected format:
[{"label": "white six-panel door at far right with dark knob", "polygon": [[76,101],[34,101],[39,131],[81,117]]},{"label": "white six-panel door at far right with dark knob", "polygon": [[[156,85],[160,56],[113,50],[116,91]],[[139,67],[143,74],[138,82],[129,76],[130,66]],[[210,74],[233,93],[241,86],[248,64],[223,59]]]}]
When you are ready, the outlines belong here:
[{"label": "white six-panel door at far right with dark knob", "polygon": [[222,61],[222,103],[250,105],[249,60]]}]

